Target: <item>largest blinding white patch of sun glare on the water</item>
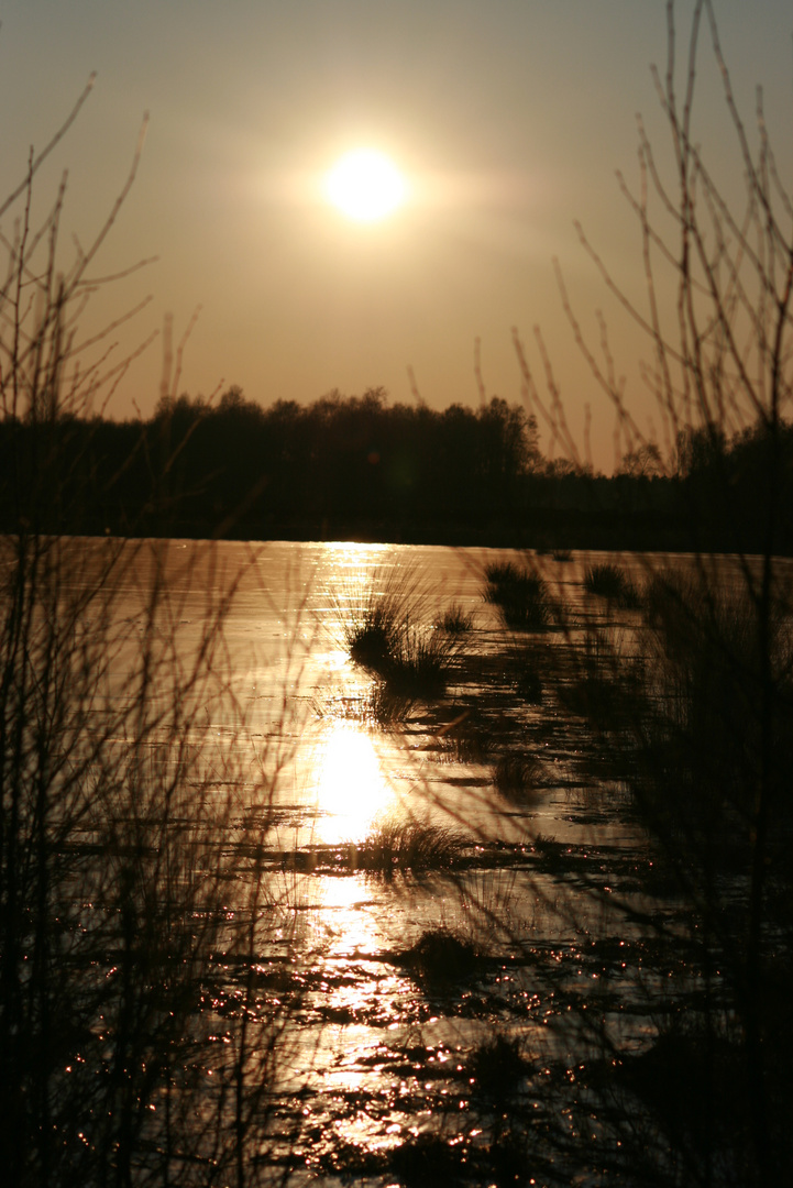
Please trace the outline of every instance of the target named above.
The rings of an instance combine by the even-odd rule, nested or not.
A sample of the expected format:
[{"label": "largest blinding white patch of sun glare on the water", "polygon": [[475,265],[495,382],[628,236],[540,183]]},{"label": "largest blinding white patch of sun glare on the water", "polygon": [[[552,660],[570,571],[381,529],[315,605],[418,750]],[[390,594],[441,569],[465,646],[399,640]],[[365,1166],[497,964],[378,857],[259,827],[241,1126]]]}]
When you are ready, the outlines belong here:
[{"label": "largest blinding white patch of sun glare on the water", "polygon": [[335,722],[319,744],[317,767],[322,840],[361,842],[394,802],[374,739],[354,722]]}]

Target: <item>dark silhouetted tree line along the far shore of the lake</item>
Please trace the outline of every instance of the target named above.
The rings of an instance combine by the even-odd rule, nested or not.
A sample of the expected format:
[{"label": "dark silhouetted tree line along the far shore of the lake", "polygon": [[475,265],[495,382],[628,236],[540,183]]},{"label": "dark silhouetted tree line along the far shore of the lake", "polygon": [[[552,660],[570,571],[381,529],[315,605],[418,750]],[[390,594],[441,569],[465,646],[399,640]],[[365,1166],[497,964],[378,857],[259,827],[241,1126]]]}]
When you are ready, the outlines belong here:
[{"label": "dark silhouetted tree line along the far shore of the lake", "polygon": [[230,387],[215,405],[164,398],[148,421],[6,417],[0,529],[791,554],[770,474],[772,506],[789,507],[793,428],[689,429],[671,462],[647,443],[607,478],[547,460],[535,417],[496,397],[436,411],[370,388],[265,407]]}]

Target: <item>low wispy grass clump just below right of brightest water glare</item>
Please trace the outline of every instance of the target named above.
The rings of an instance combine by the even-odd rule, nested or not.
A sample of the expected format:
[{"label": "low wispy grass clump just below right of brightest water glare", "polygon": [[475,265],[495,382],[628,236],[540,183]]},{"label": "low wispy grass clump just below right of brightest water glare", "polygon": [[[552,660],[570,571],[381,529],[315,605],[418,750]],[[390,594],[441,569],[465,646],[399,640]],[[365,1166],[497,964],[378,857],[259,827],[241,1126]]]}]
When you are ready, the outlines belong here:
[{"label": "low wispy grass clump just below right of brightest water glare", "polygon": [[405,871],[449,871],[458,862],[463,845],[462,835],[452,829],[389,819],[356,847],[355,862],[386,878]]}]

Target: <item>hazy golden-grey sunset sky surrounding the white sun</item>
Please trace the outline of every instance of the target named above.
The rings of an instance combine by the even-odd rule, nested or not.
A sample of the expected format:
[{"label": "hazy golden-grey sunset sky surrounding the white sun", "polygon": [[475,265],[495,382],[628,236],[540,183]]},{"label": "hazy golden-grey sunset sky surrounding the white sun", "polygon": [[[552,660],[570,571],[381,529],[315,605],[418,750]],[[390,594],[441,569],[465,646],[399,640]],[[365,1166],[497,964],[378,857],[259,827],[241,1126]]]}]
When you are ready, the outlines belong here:
[{"label": "hazy golden-grey sunset sky surrounding the white sun", "polygon": [[[715,8],[747,121],[762,82],[789,166],[789,2]],[[690,11],[677,6],[681,42]],[[570,422],[581,436],[591,404],[592,457],[610,469],[614,415],[565,321],[558,258],[594,346],[595,311],[608,316],[627,400],[661,436],[639,379],[646,345],[573,221],[641,303],[640,235],[615,171],[637,179],[637,112],[668,162],[649,69],[665,68],[662,0],[0,0],[0,19],[4,195],[97,71],[37,183],[44,211],[69,168],[64,253],[72,232],[85,244],[101,226],[150,112],[138,179],[94,274],[158,261],[104,290],[93,316],[151,293],[120,331],[128,352],[166,314],[178,340],[201,305],[179,391],[237,384],[268,404],[383,385],[408,402],[412,367],[429,405],[475,406],[480,339],[488,397],[519,400],[510,329],[539,367],[539,324]],[[697,133],[728,187],[740,172],[729,132],[705,36]],[[359,147],[387,154],[405,181],[405,202],[379,220],[347,217],[323,188]],[[161,353],[158,340],[137,361],[110,415],[152,411]]]}]

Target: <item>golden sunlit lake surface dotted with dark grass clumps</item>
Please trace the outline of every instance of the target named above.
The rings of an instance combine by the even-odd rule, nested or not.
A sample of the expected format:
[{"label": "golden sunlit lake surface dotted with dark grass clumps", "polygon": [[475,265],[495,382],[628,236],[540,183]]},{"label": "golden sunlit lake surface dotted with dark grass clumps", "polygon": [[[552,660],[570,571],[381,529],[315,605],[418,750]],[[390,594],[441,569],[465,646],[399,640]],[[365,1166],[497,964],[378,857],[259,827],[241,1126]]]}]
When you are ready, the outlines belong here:
[{"label": "golden sunlit lake surface dotted with dark grass clumps", "polygon": [[[78,599],[114,545],[63,546]],[[486,601],[486,569],[507,561],[545,581],[546,630],[508,631]],[[548,1119],[599,1126],[578,1070],[643,1051],[659,1005],[700,977],[685,905],[655,877],[581,700],[592,665],[639,653],[640,612],[588,594],[584,576],[618,563],[641,587],[698,562],[179,541],[129,543],[121,562],[107,614],[89,605],[75,631],[114,640],[97,720],[134,703],[152,658],[150,779],[184,769],[202,805],[165,817],[185,830],[189,878],[221,887],[190,1024],[197,1100],[237,1127],[262,1182],[490,1182],[513,1149],[524,1169],[535,1150],[526,1182],[569,1182]],[[742,580],[738,562],[713,564],[723,584]],[[381,596],[421,639],[452,607],[468,621],[432,696],[388,701],[350,658],[350,624]],[[121,746],[133,718],[119,720]]]}]

